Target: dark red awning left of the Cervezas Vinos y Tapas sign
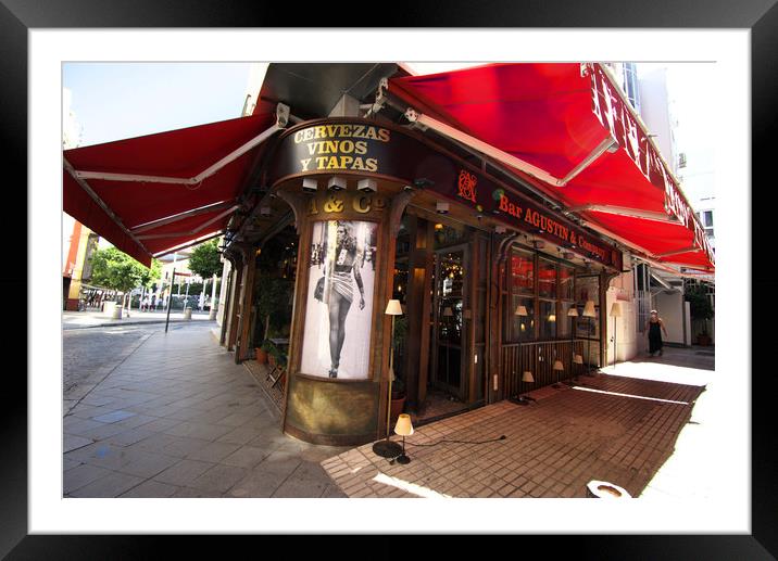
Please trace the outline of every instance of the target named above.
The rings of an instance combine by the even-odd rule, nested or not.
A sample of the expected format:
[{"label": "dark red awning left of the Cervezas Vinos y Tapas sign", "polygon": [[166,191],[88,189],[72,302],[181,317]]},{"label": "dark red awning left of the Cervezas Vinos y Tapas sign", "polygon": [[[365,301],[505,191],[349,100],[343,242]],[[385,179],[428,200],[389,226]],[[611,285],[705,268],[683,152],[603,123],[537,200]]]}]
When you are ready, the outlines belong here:
[{"label": "dark red awning left of the Cervezas Vinos y Tapas sign", "polygon": [[197,127],[64,151],[63,211],[150,266],[224,231],[276,109]]}]

